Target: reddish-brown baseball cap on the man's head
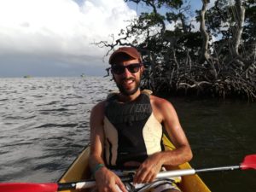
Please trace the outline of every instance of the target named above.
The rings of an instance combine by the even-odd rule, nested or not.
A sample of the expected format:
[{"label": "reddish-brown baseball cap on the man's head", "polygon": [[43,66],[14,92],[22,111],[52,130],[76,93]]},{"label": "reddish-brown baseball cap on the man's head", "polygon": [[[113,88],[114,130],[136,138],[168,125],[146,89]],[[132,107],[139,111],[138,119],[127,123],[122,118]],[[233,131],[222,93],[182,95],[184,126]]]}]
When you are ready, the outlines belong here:
[{"label": "reddish-brown baseball cap on the man's head", "polygon": [[109,64],[114,64],[113,61],[115,57],[119,54],[126,54],[130,55],[134,59],[138,59],[139,61],[143,62],[142,60],[142,55],[137,51],[136,48],[134,47],[120,47],[119,49],[113,51],[113,54],[110,55],[108,63]]}]

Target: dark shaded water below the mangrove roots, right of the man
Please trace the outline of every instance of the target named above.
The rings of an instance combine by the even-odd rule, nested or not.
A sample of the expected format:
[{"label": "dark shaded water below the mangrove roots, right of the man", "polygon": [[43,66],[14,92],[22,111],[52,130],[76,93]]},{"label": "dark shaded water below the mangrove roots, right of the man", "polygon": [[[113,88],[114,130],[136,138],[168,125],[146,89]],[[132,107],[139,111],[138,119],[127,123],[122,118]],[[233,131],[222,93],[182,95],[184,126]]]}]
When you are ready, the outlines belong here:
[{"label": "dark shaded water below the mangrove roots, right of the man", "polygon": [[[171,98],[189,138],[195,169],[239,166],[256,154],[256,103],[190,101]],[[256,191],[256,170],[205,172],[201,178],[213,192]]]}]

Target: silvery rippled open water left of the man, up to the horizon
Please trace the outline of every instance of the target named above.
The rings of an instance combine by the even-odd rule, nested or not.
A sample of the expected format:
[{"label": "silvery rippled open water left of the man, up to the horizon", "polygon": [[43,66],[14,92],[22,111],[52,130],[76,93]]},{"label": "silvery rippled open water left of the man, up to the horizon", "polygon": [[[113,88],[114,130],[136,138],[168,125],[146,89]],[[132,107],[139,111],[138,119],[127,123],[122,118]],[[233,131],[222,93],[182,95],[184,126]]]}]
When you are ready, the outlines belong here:
[{"label": "silvery rippled open water left of the man, up to the horizon", "polygon": [[89,143],[109,78],[0,79],[0,181],[51,182]]}]

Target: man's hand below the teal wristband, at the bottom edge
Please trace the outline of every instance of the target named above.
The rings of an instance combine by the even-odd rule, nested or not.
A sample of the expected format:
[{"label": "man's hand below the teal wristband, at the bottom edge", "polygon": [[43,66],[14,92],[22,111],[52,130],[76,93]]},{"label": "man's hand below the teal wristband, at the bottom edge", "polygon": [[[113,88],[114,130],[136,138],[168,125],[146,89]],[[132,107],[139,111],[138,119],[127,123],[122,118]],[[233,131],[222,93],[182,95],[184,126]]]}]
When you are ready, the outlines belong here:
[{"label": "man's hand below the teal wristband, at the bottom edge", "polygon": [[[127,192],[120,178],[107,167],[102,167],[95,173],[96,188],[99,192]],[[119,188],[119,189],[118,189]]]}]

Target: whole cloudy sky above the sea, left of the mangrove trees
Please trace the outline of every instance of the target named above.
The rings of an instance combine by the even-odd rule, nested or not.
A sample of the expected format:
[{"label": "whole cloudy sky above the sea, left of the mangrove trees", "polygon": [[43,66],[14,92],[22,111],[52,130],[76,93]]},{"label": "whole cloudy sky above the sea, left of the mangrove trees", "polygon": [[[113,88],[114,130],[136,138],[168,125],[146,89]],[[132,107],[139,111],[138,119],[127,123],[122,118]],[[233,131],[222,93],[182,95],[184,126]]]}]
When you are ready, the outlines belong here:
[{"label": "whole cloudy sky above the sea, left of the mangrove trees", "polygon": [[138,9],[124,0],[0,0],[0,78],[103,76],[108,49],[93,43],[111,41]]}]

